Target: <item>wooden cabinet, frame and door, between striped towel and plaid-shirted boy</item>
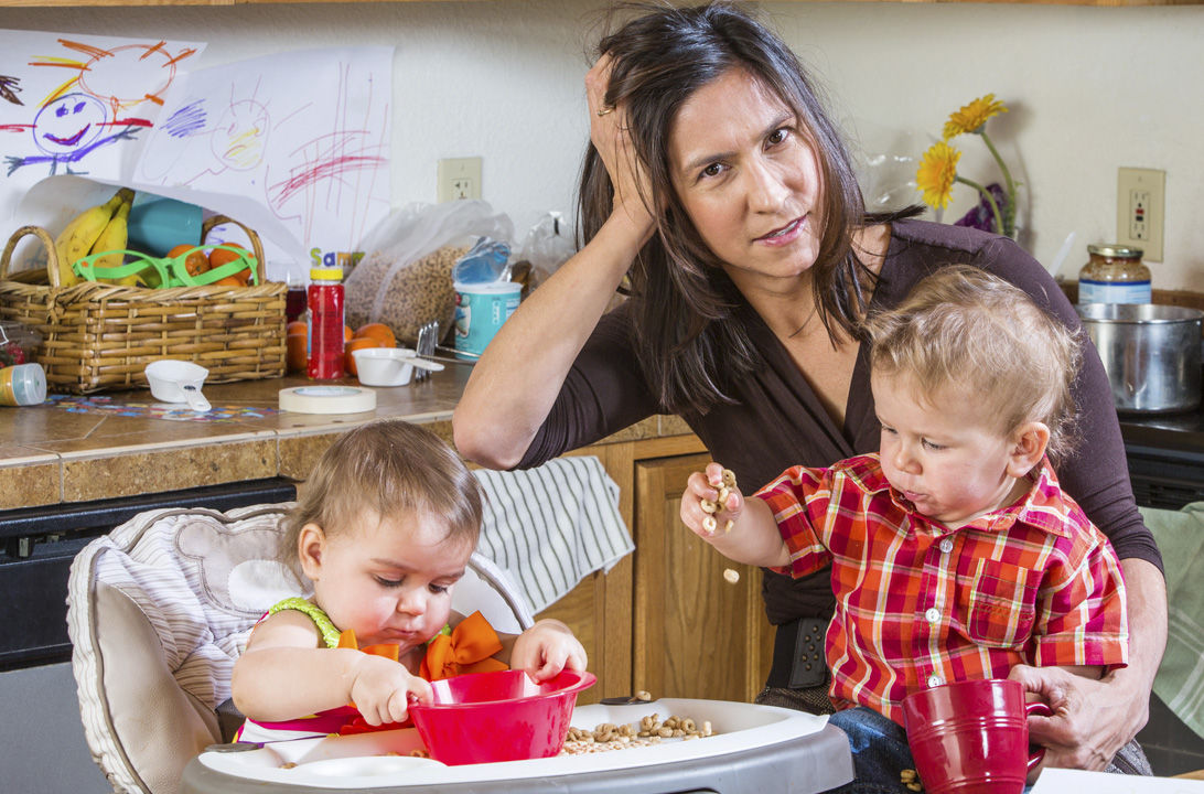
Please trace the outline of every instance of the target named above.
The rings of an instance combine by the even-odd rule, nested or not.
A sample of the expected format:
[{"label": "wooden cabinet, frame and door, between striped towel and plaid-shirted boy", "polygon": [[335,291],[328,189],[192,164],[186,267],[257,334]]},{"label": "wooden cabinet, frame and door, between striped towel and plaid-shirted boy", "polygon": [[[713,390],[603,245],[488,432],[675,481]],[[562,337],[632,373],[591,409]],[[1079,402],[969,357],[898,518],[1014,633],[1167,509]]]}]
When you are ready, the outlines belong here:
[{"label": "wooden cabinet, frame and door, between striped towel and plaid-shirted boy", "polygon": [[[755,567],[728,561],[678,518],[686,477],[710,459],[696,436],[586,447],[619,484],[636,551],[595,572],[538,617],[568,624],[597,686],[580,702],[628,695],[750,701],[761,690],[773,630]],[[737,583],[724,578],[739,572]]]}]

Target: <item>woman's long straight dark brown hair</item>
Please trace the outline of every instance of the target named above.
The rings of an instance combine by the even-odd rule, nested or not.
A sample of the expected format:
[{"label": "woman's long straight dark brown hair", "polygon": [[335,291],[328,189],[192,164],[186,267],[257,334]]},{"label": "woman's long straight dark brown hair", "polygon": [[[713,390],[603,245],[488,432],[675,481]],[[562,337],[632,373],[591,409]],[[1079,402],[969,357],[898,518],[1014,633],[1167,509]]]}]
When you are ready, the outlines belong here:
[{"label": "woman's long straight dark brown hair", "polygon": [[[692,7],[624,4],[636,13],[602,36],[597,57],[614,60],[604,95],[622,104],[635,157],[649,177],[644,204],[656,234],[632,264],[628,292],[641,367],[673,412],[704,412],[725,394],[727,377],[752,370],[760,353],[739,322],[745,301],[721,270],[673,189],[669,133],[681,106],[700,88],[743,69],[790,107],[815,151],[821,180],[818,214],[824,229],[811,274],[816,311],[830,336],[858,334],[862,289],[873,276],[852,251],[852,231],[904,214],[867,216],[852,161],[798,58],[765,24],[728,2]],[[614,23],[612,23],[612,27]],[[590,240],[609,217],[613,188],[590,145],[579,187],[578,231]],[[720,366],[720,363],[722,366]]]}]

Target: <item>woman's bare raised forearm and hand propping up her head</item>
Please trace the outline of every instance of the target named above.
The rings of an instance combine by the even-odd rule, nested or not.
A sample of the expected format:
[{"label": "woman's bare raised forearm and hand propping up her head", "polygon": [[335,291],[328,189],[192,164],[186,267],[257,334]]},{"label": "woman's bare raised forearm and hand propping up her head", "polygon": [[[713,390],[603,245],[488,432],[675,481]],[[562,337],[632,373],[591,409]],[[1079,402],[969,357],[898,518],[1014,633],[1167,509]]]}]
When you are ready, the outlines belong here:
[{"label": "woman's bare raised forearm and hand propping up her head", "polygon": [[[586,75],[590,139],[610,175],[610,217],[580,252],[523,301],[473,367],[452,418],[462,455],[512,469],[551,410],[569,367],[631,267],[654,223],[632,165],[626,114],[603,110],[610,64]],[[538,347],[536,347],[538,346]]]}]

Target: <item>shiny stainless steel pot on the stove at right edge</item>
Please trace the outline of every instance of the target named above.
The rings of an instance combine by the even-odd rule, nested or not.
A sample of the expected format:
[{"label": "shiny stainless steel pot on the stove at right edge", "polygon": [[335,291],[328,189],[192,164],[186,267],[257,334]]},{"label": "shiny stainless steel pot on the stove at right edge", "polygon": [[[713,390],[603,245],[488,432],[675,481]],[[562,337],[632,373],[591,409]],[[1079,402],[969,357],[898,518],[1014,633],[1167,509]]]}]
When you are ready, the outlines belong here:
[{"label": "shiny stainless steel pot on the stove at right edge", "polygon": [[1199,406],[1204,312],[1157,304],[1076,308],[1108,371],[1117,411],[1173,413]]}]

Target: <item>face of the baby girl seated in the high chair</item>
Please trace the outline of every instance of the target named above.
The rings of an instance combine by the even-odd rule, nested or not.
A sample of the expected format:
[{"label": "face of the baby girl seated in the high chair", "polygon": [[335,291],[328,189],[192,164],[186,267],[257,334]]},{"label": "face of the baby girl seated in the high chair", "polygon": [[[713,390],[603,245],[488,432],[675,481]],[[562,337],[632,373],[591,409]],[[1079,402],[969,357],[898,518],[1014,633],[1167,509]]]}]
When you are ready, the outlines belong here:
[{"label": "face of the baby girl seated in the high chair", "polygon": [[442,629],[452,588],[464,576],[472,545],[447,540],[442,522],[401,514],[382,520],[365,511],[353,527],[327,535],[317,566],[314,599],[360,647],[397,645],[401,653]]}]

